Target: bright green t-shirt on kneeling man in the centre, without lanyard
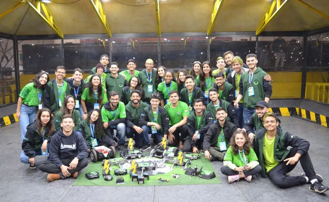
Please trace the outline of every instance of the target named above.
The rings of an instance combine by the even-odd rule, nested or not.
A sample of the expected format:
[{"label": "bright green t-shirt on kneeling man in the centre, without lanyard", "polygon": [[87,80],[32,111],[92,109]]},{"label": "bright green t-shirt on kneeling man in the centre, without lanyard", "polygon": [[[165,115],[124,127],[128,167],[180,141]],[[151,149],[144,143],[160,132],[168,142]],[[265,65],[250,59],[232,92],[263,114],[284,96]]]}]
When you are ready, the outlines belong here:
[{"label": "bright green t-shirt on kneeling man in the centre, without lanyard", "polygon": [[164,106],[164,109],[167,111],[169,116],[169,125],[173,126],[176,123],[179,123],[183,120],[184,116],[189,116],[189,107],[185,102],[178,101],[178,106],[176,108],[172,108],[171,102]]}]

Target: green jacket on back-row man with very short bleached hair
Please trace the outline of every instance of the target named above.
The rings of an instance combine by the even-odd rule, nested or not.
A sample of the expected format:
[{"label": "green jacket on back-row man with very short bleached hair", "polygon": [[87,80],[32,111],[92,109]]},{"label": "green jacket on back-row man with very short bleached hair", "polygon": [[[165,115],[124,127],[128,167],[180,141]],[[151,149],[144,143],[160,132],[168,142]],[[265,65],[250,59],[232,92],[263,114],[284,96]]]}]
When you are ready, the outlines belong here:
[{"label": "green jacket on back-row man with very short bleached hair", "polygon": [[[151,78],[151,84],[149,81],[150,78],[150,74],[146,74],[146,69],[143,69],[142,71],[139,72],[138,74],[138,80],[141,83],[141,87],[143,88],[144,92],[145,92],[145,98],[144,101],[145,102],[149,102],[150,101],[150,96],[152,93],[157,93],[157,89],[155,88],[155,78],[157,76],[157,71],[154,71],[152,69],[152,78]],[[152,92],[148,91],[148,86],[151,85],[152,86]]]}]

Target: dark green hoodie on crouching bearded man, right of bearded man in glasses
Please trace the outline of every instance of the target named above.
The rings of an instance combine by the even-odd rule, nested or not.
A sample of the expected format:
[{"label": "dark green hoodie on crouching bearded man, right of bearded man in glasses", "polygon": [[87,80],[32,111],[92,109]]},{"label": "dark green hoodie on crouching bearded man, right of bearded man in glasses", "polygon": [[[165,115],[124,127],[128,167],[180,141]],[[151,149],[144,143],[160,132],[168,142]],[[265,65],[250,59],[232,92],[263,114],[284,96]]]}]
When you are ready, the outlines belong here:
[{"label": "dark green hoodie on crouching bearded man, right of bearded man in glasses", "polygon": [[139,121],[139,117],[140,114],[143,112],[144,108],[148,107],[148,104],[146,104],[143,101],[139,101],[139,106],[136,108],[133,106],[132,101],[129,101],[129,103],[126,105],[126,127],[133,129],[134,126],[139,126],[141,127],[141,125],[139,125],[138,121]]}]

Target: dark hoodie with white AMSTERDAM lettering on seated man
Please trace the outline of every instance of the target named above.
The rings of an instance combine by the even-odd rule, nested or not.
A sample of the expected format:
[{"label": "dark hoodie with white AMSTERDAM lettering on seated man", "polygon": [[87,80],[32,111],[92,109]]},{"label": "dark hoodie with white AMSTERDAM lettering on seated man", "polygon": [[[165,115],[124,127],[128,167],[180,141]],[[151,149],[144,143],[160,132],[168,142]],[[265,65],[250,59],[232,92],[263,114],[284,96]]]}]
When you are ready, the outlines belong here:
[{"label": "dark hoodie with white AMSTERDAM lettering on seated man", "polygon": [[79,158],[79,161],[88,157],[88,149],[83,136],[72,130],[72,134],[65,136],[63,130],[55,134],[49,145],[49,157],[57,167],[63,165],[62,159]]}]

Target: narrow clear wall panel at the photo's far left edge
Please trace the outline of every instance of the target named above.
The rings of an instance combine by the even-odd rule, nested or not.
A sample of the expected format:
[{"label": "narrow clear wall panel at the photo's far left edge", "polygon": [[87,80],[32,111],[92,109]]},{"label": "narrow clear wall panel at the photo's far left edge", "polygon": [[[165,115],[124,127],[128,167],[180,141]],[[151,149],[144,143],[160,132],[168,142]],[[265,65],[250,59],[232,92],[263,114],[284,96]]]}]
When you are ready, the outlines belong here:
[{"label": "narrow clear wall panel at the photo's far left edge", "polygon": [[0,38],[0,106],[17,102],[13,40]]}]

